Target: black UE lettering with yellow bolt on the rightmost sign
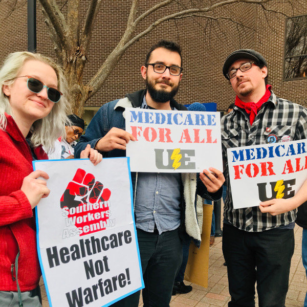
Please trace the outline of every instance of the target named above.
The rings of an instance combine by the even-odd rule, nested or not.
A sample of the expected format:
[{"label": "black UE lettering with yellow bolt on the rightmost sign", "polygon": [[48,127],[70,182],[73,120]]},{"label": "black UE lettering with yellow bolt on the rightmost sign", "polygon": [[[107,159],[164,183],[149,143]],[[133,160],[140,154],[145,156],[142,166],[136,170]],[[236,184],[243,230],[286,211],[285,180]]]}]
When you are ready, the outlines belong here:
[{"label": "black UE lettering with yellow bolt on the rightmost sign", "polygon": [[291,180],[278,180],[276,182],[270,182],[271,192],[269,196],[267,194],[267,183],[258,183],[259,200],[261,202],[269,201],[272,199],[289,199],[294,196],[292,186],[295,185],[295,179]]}]

